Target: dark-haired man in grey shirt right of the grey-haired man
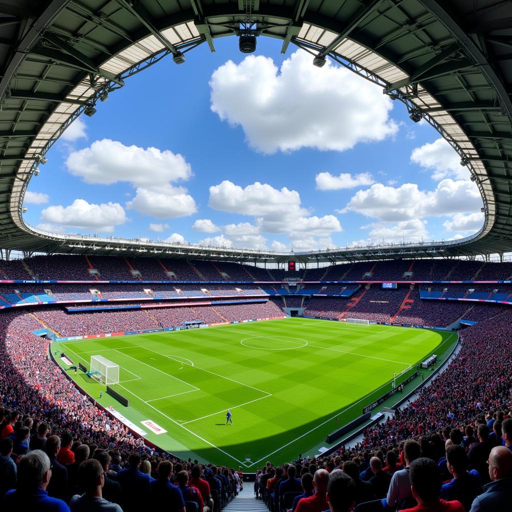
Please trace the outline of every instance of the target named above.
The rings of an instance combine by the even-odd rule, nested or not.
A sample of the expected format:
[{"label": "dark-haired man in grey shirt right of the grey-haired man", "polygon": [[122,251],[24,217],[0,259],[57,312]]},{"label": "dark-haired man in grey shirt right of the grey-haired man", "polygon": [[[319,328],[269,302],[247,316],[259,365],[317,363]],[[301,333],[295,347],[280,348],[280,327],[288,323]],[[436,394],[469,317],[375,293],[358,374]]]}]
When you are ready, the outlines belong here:
[{"label": "dark-haired man in grey shirt right of the grey-haired man", "polygon": [[86,460],[80,464],[78,481],[85,492],[81,496],[75,495],[71,498],[71,512],[123,512],[117,503],[111,503],[103,498],[103,468],[96,459]]}]

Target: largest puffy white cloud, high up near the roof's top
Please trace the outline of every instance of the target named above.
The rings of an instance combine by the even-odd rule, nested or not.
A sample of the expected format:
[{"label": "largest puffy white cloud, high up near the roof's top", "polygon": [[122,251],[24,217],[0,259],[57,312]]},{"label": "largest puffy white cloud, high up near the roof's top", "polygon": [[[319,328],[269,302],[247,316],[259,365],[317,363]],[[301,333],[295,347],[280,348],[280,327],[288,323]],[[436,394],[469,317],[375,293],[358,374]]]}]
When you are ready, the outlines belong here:
[{"label": "largest puffy white cloud, high up near the roof's top", "polygon": [[250,55],[239,65],[229,60],[212,74],[210,87],[211,110],[242,126],[249,145],[262,153],[344,151],[398,129],[389,118],[392,101],[374,84],[329,59],[316,68],[301,50],[281,70],[264,56]]}]

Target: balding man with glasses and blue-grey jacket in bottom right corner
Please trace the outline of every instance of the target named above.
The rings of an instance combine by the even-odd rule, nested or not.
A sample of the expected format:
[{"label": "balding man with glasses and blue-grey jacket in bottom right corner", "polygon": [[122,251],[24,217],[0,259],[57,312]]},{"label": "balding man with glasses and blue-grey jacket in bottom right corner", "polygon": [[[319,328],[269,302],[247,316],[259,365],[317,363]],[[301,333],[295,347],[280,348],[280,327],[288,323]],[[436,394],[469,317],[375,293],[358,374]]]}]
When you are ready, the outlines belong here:
[{"label": "balding man with glasses and blue-grey jacket in bottom right corner", "polygon": [[495,446],[489,454],[490,483],[475,498],[471,512],[507,510],[512,500],[512,453],[505,446]]}]

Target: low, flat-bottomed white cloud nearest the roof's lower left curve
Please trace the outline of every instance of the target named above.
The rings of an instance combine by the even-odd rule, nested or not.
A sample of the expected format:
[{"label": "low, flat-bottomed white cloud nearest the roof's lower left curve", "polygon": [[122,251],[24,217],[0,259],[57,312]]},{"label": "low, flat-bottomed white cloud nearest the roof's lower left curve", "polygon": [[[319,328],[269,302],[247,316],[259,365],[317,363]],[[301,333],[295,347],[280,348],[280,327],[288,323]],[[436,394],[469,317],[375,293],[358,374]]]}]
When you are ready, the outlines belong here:
[{"label": "low, flat-bottomed white cloud nearest the roof's lower left curve", "polygon": [[70,206],[48,206],[41,212],[41,219],[47,223],[60,224],[82,229],[98,229],[112,232],[114,227],[128,219],[119,203],[91,204],[75,199]]}]

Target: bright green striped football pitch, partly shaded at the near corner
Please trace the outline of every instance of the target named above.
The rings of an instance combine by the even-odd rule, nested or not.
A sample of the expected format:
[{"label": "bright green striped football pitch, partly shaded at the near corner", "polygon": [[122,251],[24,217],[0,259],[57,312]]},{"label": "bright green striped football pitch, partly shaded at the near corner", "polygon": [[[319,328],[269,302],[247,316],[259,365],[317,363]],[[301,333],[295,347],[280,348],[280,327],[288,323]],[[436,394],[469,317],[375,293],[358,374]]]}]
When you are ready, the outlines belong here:
[{"label": "bright green striped football pitch, partly shaded at the near corner", "polygon": [[[52,351],[66,352],[88,368],[92,355],[116,362],[115,389],[130,407],[105,394],[101,404],[121,412],[162,448],[254,470],[269,458],[279,463],[308,453],[391,389],[394,373],[411,365],[414,370],[455,337],[287,318],[54,343]],[[99,399],[103,385],[82,372],[69,374]],[[232,425],[225,424],[227,409]],[[148,419],[167,432],[151,433],[141,424]]]}]

